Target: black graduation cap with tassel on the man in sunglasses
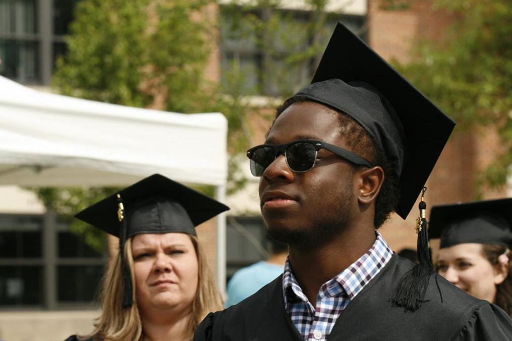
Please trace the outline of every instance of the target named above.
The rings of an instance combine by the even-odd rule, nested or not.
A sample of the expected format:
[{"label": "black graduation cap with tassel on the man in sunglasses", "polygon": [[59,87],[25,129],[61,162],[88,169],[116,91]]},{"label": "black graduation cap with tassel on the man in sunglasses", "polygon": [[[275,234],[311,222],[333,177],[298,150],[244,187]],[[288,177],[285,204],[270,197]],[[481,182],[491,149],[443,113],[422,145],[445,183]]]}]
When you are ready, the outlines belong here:
[{"label": "black graduation cap with tassel on the man in sunglasses", "polygon": [[[331,106],[356,120],[394,161],[405,219],[429,177],[455,123],[384,59],[338,23],[311,85],[295,96]],[[392,302],[414,311],[430,275],[425,203],[420,204],[419,263],[404,275]]]}]

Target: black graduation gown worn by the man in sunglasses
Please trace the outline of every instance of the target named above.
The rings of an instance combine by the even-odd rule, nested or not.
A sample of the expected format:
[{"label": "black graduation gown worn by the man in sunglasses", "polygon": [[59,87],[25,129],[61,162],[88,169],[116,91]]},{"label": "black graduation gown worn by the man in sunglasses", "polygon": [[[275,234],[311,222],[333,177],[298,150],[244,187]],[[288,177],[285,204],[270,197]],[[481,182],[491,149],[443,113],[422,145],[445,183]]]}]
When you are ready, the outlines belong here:
[{"label": "black graduation gown worn by the man in sunglasses", "polygon": [[[398,280],[414,266],[393,254],[337,319],[336,340],[512,340],[512,319],[499,307],[475,299],[435,274],[415,312],[390,303]],[[303,340],[284,308],[282,276],[238,305],[208,314],[194,340]]]}]

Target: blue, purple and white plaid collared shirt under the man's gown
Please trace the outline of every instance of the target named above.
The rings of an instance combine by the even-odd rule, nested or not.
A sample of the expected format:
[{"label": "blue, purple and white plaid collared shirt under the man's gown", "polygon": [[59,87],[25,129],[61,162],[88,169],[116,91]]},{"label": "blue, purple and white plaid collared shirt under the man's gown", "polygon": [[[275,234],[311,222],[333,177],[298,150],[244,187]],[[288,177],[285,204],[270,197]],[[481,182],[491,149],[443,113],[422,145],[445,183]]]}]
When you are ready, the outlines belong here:
[{"label": "blue, purple and white plaid collared shirt under the man's gown", "polygon": [[376,232],[372,247],[357,261],[324,283],[316,296],[316,308],[302,292],[286,260],[283,272],[283,296],[291,321],[307,341],[324,341],[336,319],[350,301],[391,259],[388,243]]}]

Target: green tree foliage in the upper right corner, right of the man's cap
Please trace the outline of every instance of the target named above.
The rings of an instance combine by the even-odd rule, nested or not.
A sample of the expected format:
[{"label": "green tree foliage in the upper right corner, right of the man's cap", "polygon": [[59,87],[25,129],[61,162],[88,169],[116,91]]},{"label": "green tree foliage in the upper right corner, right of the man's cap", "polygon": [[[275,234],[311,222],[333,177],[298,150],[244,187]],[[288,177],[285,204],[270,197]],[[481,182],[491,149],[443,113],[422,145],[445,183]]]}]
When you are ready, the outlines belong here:
[{"label": "green tree foliage in the upper right corner, right of the man's cap", "polygon": [[496,127],[507,152],[484,178],[502,185],[512,163],[512,6],[509,0],[438,0],[436,6],[458,20],[441,47],[422,42],[401,71],[459,130]]}]

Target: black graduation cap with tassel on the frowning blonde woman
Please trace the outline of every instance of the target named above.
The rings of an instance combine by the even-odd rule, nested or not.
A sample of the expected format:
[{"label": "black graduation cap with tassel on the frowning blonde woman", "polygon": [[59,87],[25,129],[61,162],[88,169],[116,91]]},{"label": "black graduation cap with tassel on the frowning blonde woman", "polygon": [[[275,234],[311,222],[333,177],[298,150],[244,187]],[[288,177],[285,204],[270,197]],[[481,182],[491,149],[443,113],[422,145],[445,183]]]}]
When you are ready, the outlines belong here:
[{"label": "black graduation cap with tassel on the frowning blonde woman", "polygon": [[133,304],[133,285],[124,259],[124,243],[139,233],[181,232],[196,236],[195,226],[229,207],[160,174],[120,190],[75,217],[119,237],[123,272],[123,308]]}]

